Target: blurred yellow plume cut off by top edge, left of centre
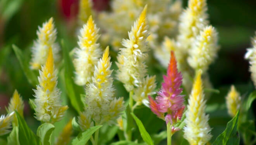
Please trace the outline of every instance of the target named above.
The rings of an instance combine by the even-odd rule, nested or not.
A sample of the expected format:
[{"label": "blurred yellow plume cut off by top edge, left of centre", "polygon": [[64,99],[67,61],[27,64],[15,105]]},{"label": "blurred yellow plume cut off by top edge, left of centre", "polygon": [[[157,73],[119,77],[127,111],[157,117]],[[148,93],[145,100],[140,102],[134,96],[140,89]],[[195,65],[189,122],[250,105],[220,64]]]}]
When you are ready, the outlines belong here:
[{"label": "blurred yellow plume cut off by top edge, left of centre", "polygon": [[79,23],[85,24],[88,18],[92,15],[92,0],[80,0],[79,3]]}]

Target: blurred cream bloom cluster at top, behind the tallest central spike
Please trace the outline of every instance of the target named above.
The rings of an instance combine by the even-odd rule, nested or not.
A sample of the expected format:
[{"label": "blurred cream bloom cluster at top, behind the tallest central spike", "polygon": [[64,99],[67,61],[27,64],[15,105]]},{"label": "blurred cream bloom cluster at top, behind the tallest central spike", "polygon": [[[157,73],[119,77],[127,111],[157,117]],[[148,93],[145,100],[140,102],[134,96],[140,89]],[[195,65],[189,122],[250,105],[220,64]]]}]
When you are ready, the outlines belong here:
[{"label": "blurred cream bloom cluster at top, behind the tallest central spike", "polygon": [[99,13],[99,24],[104,30],[101,41],[111,44],[115,50],[121,47],[121,38],[127,38],[127,31],[144,5],[148,5],[150,45],[157,45],[164,36],[175,36],[178,17],[182,12],[180,0],[112,0],[111,12]]}]

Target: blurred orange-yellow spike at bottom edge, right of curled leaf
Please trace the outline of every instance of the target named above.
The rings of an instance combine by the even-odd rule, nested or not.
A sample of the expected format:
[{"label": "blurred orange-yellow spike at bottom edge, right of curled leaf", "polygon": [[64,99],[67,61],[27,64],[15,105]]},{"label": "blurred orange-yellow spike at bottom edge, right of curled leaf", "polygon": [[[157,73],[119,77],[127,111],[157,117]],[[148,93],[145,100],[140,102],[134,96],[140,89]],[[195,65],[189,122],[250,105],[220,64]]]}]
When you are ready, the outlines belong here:
[{"label": "blurred orange-yellow spike at bottom edge, right of curled leaf", "polygon": [[72,119],[70,119],[69,122],[66,124],[66,126],[63,128],[55,145],[67,145],[71,139],[72,133],[73,133]]}]

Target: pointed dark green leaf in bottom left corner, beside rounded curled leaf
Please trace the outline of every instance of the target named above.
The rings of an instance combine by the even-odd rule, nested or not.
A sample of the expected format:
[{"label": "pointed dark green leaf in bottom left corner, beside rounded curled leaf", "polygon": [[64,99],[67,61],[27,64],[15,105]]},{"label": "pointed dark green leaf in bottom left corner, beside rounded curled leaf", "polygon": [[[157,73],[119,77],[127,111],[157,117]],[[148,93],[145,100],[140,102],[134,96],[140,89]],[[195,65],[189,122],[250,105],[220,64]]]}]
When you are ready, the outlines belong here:
[{"label": "pointed dark green leaf in bottom left corner, beside rounded curled leaf", "polygon": [[15,113],[18,120],[18,137],[20,145],[40,145],[38,137],[28,127],[26,121],[19,115],[19,113]]}]

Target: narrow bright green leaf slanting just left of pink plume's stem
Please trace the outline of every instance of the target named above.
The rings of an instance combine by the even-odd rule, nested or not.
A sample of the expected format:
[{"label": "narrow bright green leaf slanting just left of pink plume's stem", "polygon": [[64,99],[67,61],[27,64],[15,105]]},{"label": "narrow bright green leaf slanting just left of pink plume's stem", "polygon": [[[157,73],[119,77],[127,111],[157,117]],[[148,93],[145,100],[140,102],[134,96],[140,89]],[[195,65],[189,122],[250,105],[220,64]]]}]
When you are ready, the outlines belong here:
[{"label": "narrow bright green leaf slanting just left of pink plume's stem", "polygon": [[140,135],[141,135],[142,139],[144,140],[144,142],[146,142],[148,145],[154,145],[149,133],[145,130],[140,119],[138,119],[133,113],[131,113],[131,116],[133,116],[133,119],[135,120],[135,122],[139,128]]}]

